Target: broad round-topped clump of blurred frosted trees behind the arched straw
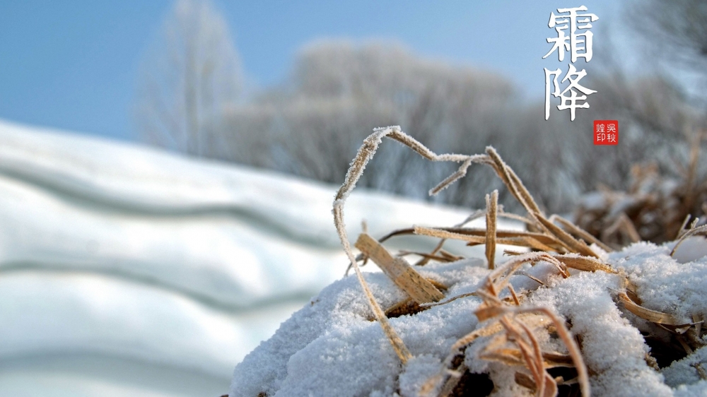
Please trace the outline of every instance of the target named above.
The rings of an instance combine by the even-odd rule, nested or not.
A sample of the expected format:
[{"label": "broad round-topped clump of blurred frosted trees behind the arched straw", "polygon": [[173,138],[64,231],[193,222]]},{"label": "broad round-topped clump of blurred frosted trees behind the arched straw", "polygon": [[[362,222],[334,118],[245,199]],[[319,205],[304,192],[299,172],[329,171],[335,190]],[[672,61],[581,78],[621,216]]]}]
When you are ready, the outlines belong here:
[{"label": "broad round-topped clump of blurred frosted trees behind the arched straw", "polygon": [[[284,85],[231,109],[231,125],[258,131],[245,147],[259,150],[236,160],[341,183],[363,138],[395,124],[433,150],[484,150],[512,93],[501,76],[423,59],[395,43],[317,42],[300,52]],[[426,183],[447,172],[402,146],[380,150],[365,186],[423,198]]]}]

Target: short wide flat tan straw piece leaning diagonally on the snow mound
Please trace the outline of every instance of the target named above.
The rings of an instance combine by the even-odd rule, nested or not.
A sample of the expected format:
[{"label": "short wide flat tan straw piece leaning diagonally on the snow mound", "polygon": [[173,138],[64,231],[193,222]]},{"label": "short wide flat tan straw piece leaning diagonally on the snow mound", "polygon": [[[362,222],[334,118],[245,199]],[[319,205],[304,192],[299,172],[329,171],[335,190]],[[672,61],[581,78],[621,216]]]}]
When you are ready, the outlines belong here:
[{"label": "short wide flat tan straw piece leaning diagonally on the snow mound", "polygon": [[358,236],[355,247],[377,264],[383,273],[417,303],[438,302],[444,295],[402,258],[394,258],[373,237]]}]

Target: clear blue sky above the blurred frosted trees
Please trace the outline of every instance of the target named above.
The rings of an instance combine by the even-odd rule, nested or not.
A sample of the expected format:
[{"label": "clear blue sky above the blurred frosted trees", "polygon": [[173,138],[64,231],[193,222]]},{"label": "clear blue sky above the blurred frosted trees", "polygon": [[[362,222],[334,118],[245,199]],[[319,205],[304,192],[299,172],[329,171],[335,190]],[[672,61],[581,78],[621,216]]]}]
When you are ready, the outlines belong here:
[{"label": "clear blue sky above the blurred frosted trees", "polygon": [[[605,26],[618,11],[611,0],[214,3],[255,85],[285,78],[298,49],[312,40],[385,39],[423,57],[497,71],[539,100],[543,67],[557,67],[542,59],[550,48],[545,39],[556,35],[547,27],[551,11],[588,6],[600,17],[592,28],[595,45],[608,40]],[[171,6],[162,0],[2,2],[0,118],[135,140],[136,74]]]}]

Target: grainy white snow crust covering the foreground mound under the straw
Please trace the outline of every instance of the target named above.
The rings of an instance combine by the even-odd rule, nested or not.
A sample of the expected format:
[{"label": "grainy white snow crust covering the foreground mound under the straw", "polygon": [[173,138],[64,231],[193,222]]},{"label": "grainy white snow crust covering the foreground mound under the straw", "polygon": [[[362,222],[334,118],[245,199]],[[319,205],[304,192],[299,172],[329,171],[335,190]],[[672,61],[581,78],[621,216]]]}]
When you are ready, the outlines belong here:
[{"label": "grainy white snow crust covering the foreground mound under the straw", "polygon": [[[644,307],[690,322],[691,315],[707,315],[707,258],[679,263],[670,256],[672,244],[633,244],[607,254],[606,259],[636,285]],[[471,259],[431,263],[419,271],[448,285],[445,295],[452,297],[476,290],[489,273],[485,267],[484,261]],[[570,331],[581,337],[592,396],[707,395],[707,381],[691,366],[696,362],[707,366],[706,348],[660,371],[648,365],[650,349],[641,331],[661,330],[619,303],[622,275],[573,271],[565,279],[544,262],[525,265],[519,273],[544,283],[539,286],[522,274],[510,278],[516,291],[532,290],[524,304],[548,307],[567,319]],[[366,274],[366,280],[382,307],[404,297],[385,275]],[[339,280],[245,357],[235,368],[230,396],[262,392],[270,397],[417,396],[427,379],[443,371],[442,363],[455,340],[484,325],[474,316],[480,302],[475,296],[465,297],[390,319],[414,355],[401,367],[380,326],[369,321],[372,314],[356,279]],[[470,371],[491,374],[494,396],[529,395],[528,389],[513,381],[515,369],[479,358],[483,340],[479,338],[465,351]],[[561,346],[555,348],[561,351]]]}]

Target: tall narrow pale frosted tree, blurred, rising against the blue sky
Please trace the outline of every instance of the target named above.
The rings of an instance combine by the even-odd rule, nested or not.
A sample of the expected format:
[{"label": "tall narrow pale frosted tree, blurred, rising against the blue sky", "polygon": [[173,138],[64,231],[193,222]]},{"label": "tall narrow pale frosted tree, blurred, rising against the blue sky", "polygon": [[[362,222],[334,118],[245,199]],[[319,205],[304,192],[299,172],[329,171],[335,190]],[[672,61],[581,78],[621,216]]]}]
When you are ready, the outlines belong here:
[{"label": "tall narrow pale frosted tree, blurred, rising against the blue sky", "polygon": [[239,90],[240,64],[226,20],[207,0],[177,0],[141,64],[139,134],[191,155],[218,155],[224,109]]}]

